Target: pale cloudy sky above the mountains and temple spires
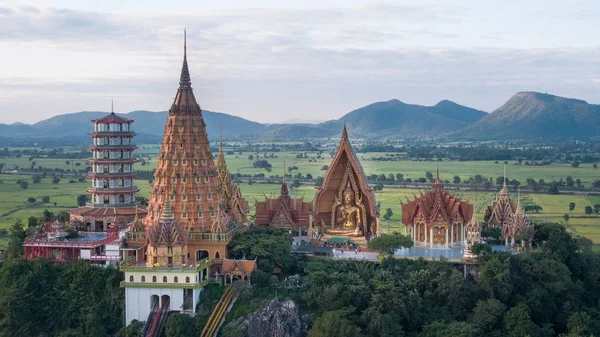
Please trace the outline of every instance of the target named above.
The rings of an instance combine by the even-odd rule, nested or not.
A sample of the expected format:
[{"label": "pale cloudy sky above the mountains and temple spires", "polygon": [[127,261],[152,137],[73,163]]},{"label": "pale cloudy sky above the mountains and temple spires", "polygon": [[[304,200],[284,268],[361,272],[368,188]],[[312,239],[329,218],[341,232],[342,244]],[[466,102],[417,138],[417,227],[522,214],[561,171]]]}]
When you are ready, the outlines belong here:
[{"label": "pale cloudy sky above the mountains and temple spires", "polygon": [[519,91],[600,103],[600,2],[0,0],[0,123],[203,109],[263,123]]}]

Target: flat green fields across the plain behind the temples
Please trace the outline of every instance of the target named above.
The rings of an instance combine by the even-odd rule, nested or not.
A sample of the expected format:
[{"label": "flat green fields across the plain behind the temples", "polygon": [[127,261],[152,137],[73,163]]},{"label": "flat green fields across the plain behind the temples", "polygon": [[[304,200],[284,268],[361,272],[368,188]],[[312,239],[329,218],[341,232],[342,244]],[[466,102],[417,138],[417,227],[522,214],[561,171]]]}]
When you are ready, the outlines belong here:
[{"label": "flat green fields across the plain behind the temples", "polygon": [[[146,160],[147,164],[141,166],[137,164],[138,170],[151,170],[155,164],[155,155],[158,152],[158,145],[142,145],[137,151],[137,155]],[[304,152],[303,152],[304,153]],[[268,153],[270,155],[270,153]],[[276,152],[277,158],[266,158],[272,165],[271,172],[264,169],[254,168],[253,162],[256,159],[264,159],[263,153],[236,153],[226,155],[227,165],[232,173],[242,174],[257,174],[264,173],[266,176],[281,175],[283,173],[284,160],[286,166],[297,166],[298,170],[291,172],[292,174],[302,173],[306,175],[310,173],[313,177],[323,176],[325,171],[322,170],[324,165],[329,165],[331,157],[329,153],[323,152],[322,158],[317,158],[316,152],[307,152],[307,158],[297,158],[297,152]],[[248,156],[253,155],[253,160],[249,160]],[[375,161],[374,157],[385,157],[386,153],[359,153],[358,157],[367,175],[381,174],[386,175],[402,173],[405,178],[417,179],[425,177],[425,172],[435,172],[438,166],[437,162],[422,162],[422,161]],[[1,163],[5,164],[5,171],[12,170],[15,166],[29,167],[31,162],[27,158],[8,158],[0,159]],[[66,159],[45,159],[36,158],[36,166],[45,168],[62,168],[62,169],[82,169],[85,167],[85,160],[71,160],[70,165],[66,164]],[[75,166],[75,163],[80,163],[80,166]],[[460,176],[463,180],[476,174],[481,174],[484,177],[496,178],[503,173],[502,163],[494,162],[440,162],[440,175],[444,180],[452,180],[455,175]],[[591,164],[581,164],[579,168],[573,168],[570,165],[549,165],[549,166],[525,166],[515,165],[510,162],[508,167],[508,176],[511,179],[517,179],[522,183],[527,178],[536,180],[544,179],[546,181],[558,180],[572,176],[574,179],[581,179],[584,185],[589,186],[592,181],[600,176],[600,171],[593,169]],[[17,179],[26,179],[29,181],[29,188],[23,190],[17,184]],[[0,228],[8,228],[17,220],[26,221],[29,216],[39,216],[41,212],[48,208],[58,212],[62,209],[75,207],[76,198],[79,194],[84,194],[89,182],[69,184],[70,178],[63,178],[59,184],[52,184],[51,178],[45,178],[40,184],[33,184],[31,176],[21,176],[12,174],[0,175]],[[138,180],[137,185],[140,187],[140,195],[149,196],[150,186],[145,180]],[[279,194],[279,185],[267,184],[242,184],[242,193],[251,205],[251,214],[254,213],[254,200],[263,200],[264,195],[277,196]],[[305,200],[312,200],[314,196],[314,188],[310,186],[302,186],[298,190],[292,192],[298,197],[304,197]],[[377,193],[377,200],[381,201],[382,214],[385,209],[391,208],[394,215],[389,221],[382,220],[385,231],[400,230],[403,231],[403,226],[400,223],[402,218],[400,200],[406,201],[407,198],[412,199],[413,193],[416,190],[410,189],[391,189],[386,188],[382,192]],[[494,193],[489,192],[456,192],[462,199],[469,202],[475,202],[477,206],[478,218],[483,217],[484,208],[494,199]],[[41,200],[42,196],[49,196],[50,202],[42,205],[31,205],[27,202],[27,198],[34,197]],[[515,196],[516,197],[516,196]],[[535,203],[543,207],[543,211],[539,214],[531,214],[534,221],[563,221],[562,216],[565,213],[570,213],[568,210],[569,202],[575,202],[576,208],[571,213],[569,226],[574,232],[583,234],[592,239],[594,243],[600,244],[600,218],[596,216],[588,217],[584,214],[585,206],[593,206],[600,204],[600,196],[573,196],[573,195],[548,195],[548,194],[532,194],[522,195],[524,204]],[[56,205],[54,205],[56,203]],[[2,241],[0,241],[2,245]]]}]

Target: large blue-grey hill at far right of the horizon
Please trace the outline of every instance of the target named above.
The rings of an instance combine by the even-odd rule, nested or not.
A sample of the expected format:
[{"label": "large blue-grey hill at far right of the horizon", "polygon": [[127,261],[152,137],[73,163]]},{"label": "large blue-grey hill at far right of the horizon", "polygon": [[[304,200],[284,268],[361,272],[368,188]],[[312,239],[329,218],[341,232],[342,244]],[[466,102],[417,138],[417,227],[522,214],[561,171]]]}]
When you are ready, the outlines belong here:
[{"label": "large blue-grey hill at far right of the horizon", "polygon": [[519,92],[456,137],[536,140],[599,135],[600,105],[538,92]]}]

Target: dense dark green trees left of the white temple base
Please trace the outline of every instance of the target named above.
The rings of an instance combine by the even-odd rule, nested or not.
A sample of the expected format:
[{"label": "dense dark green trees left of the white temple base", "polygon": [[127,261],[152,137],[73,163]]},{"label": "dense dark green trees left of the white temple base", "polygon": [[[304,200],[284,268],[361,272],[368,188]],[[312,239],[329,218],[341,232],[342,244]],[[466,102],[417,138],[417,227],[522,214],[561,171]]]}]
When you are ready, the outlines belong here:
[{"label": "dense dark green trees left of the white temple base", "polygon": [[11,259],[0,267],[0,337],[116,335],[121,272],[88,263]]}]

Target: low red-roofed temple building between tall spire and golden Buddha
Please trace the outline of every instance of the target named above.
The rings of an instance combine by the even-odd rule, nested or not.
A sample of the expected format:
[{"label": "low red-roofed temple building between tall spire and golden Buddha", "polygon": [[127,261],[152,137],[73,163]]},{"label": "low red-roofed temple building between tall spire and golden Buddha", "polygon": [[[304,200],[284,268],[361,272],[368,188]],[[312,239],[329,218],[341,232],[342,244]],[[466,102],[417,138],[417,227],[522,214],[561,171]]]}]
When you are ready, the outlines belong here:
[{"label": "low red-roofed temple building between tall spire and golden Buddha", "polygon": [[255,223],[258,226],[285,228],[291,231],[295,240],[308,240],[312,201],[290,197],[285,182],[285,165],[279,197],[265,197],[265,201],[256,201],[255,206]]}]

